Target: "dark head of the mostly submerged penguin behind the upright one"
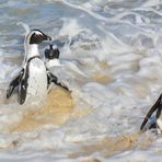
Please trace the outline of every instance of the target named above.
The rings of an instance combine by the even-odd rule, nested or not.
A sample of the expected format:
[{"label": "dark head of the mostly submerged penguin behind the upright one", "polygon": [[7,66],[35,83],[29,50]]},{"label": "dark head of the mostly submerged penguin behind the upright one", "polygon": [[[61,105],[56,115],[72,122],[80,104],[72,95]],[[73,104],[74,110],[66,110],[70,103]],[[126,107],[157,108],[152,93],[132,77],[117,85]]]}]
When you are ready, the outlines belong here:
[{"label": "dark head of the mostly submerged penguin behind the upright one", "polygon": [[53,45],[49,46],[49,49],[45,50],[46,59],[59,59],[59,50],[57,47],[53,48]]}]

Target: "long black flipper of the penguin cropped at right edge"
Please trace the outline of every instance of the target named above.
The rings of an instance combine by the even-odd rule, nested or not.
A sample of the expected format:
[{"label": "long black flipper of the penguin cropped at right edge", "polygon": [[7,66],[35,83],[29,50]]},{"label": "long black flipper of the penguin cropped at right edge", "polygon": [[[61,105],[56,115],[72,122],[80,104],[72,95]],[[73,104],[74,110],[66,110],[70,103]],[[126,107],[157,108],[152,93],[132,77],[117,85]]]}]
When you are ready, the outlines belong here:
[{"label": "long black flipper of the penguin cropped at right edge", "polygon": [[157,112],[157,117],[160,116],[161,114],[161,108],[162,108],[162,94],[159,96],[159,99],[157,100],[155,104],[151,107],[151,109],[148,112],[147,116],[144,117],[140,130],[143,129],[143,127],[146,126],[148,119],[151,117],[151,115],[158,109]]}]

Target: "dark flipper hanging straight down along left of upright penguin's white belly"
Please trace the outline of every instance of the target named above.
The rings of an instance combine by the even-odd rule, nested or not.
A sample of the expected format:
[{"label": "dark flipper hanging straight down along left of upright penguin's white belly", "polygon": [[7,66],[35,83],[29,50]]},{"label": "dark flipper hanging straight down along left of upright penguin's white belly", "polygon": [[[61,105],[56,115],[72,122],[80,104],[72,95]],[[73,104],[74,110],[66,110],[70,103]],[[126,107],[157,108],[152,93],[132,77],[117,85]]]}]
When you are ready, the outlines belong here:
[{"label": "dark flipper hanging straight down along left of upright penguin's white belly", "polygon": [[18,91],[18,102],[22,105],[26,100],[27,93],[27,79],[28,79],[28,71],[26,70],[20,81],[19,91]]}]

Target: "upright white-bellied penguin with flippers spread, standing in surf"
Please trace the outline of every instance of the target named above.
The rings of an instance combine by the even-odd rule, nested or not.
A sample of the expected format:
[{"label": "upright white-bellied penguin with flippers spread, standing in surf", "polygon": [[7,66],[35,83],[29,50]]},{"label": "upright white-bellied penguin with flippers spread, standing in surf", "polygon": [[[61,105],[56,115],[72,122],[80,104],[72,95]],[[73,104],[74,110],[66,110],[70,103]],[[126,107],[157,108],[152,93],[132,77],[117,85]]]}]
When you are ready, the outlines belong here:
[{"label": "upright white-bellied penguin with flippers spread, standing in surf", "polygon": [[10,99],[13,92],[16,92],[20,105],[32,101],[43,101],[51,82],[69,91],[66,85],[58,82],[57,77],[48,70],[40,58],[38,45],[44,40],[51,40],[51,38],[39,30],[32,30],[26,35],[22,70],[10,82],[7,90],[7,99]]}]

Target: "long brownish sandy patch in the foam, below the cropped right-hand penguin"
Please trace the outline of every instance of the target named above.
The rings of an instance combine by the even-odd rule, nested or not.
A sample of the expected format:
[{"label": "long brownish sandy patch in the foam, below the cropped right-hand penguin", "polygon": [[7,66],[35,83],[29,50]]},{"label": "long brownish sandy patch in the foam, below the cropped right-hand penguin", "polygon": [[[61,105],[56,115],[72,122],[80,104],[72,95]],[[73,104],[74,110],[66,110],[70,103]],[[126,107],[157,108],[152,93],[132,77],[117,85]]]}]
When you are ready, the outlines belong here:
[{"label": "long brownish sandy patch in the foam, below the cropped right-hand penguin", "polygon": [[139,148],[141,150],[148,149],[152,142],[153,137],[144,136],[144,140],[141,139],[141,132],[135,132],[118,137],[105,137],[103,140],[99,140],[92,144],[84,144],[78,152],[71,153],[70,158],[85,157],[83,162],[95,162],[97,159],[92,159],[91,154],[99,152],[103,158],[109,158],[114,154],[121,153],[124,151]]}]

